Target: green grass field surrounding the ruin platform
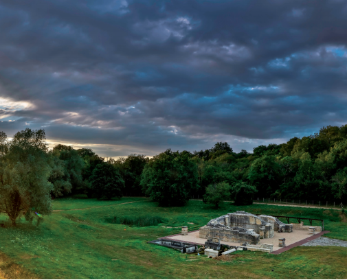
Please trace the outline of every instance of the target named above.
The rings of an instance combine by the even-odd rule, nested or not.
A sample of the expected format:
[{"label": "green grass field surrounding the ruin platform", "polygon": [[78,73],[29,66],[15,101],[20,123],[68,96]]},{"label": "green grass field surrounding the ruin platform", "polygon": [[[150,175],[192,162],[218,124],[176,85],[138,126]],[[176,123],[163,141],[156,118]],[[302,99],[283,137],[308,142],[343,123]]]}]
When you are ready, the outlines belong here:
[{"label": "green grass field surrounding the ruin platform", "polygon": [[[324,219],[325,229],[331,231],[326,236],[347,240],[346,216],[341,211],[274,205],[235,207],[227,203],[213,209],[201,201],[165,208],[146,198],[98,201],[84,196],[56,199],[54,210],[63,211],[46,216],[41,226],[22,220],[16,228],[0,228],[0,278],[347,278],[347,248],[296,247],[280,255],[241,251],[221,261],[146,243],[178,233],[178,226],[188,226],[191,231],[211,218],[236,210]],[[143,227],[110,222],[115,216],[144,215],[166,220]],[[8,223],[5,215],[0,215],[0,222]]]}]

